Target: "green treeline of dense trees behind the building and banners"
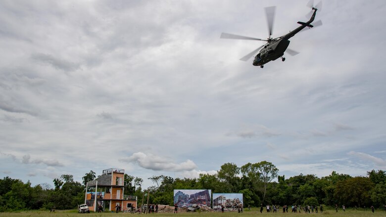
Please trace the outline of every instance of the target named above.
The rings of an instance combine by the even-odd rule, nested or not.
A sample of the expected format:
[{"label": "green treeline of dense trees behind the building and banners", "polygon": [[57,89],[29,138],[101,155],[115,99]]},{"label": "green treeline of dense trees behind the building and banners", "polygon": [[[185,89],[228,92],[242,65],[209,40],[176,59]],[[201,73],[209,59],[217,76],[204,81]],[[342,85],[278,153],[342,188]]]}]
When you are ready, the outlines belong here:
[{"label": "green treeline of dense trees behind the building and banners", "polygon": [[[372,170],[366,176],[352,177],[332,172],[325,177],[299,174],[290,178],[278,175],[270,162],[234,163],[221,166],[216,174],[200,174],[198,178],[149,177],[154,185],[142,189],[143,179],[125,174],[125,194],[136,195],[138,205],[149,192],[149,203],[173,205],[174,189],[211,189],[212,193],[242,193],[244,207],[275,205],[345,205],[346,207],[384,207],[386,204],[386,172]],[[31,186],[19,179],[0,179],[0,212],[38,209],[74,209],[83,204],[86,183],[96,173],[83,176],[83,183],[73,175],[63,174],[53,180],[54,188],[45,184]],[[273,180],[278,181],[273,181]],[[146,201],[145,196],[145,201]],[[145,202],[146,203],[146,202]]]}]

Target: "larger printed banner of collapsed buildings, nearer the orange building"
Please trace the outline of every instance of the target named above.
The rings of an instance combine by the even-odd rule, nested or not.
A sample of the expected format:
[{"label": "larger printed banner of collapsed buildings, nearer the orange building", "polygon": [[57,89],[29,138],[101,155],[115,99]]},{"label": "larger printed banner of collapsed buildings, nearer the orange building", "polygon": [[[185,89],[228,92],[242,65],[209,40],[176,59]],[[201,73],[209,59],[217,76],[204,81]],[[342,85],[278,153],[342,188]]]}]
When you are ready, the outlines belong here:
[{"label": "larger printed banner of collapsed buildings, nearer the orange building", "polygon": [[190,207],[192,204],[210,207],[212,190],[174,190],[174,204],[178,207]]}]

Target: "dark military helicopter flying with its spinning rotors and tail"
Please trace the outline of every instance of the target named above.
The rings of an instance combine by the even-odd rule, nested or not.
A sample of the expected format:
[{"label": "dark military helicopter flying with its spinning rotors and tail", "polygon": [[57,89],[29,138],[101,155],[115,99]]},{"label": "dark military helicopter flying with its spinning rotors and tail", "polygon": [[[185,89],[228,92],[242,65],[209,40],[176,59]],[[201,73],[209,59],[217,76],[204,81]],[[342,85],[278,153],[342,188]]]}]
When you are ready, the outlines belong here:
[{"label": "dark military helicopter flying with its spinning rotors and tail", "polygon": [[283,57],[284,52],[287,51],[290,55],[294,56],[298,54],[298,52],[291,50],[288,48],[288,45],[290,44],[289,39],[293,37],[296,33],[300,32],[304,28],[312,28],[316,26],[322,25],[322,21],[316,21],[314,25],[311,25],[311,23],[315,19],[316,11],[318,10],[317,7],[322,6],[322,1],[320,1],[316,6],[313,6],[313,0],[310,0],[307,4],[312,10],[310,11],[311,18],[307,22],[297,22],[301,26],[297,27],[296,29],[290,31],[290,33],[278,37],[278,38],[271,38],[272,36],[272,27],[273,27],[273,21],[275,17],[275,10],[276,6],[271,6],[271,7],[266,7],[265,8],[265,15],[267,17],[267,22],[268,22],[268,32],[269,32],[269,37],[267,40],[263,39],[256,39],[256,38],[251,38],[251,37],[246,37],[246,36],[239,36],[239,35],[234,35],[234,34],[229,34],[229,33],[222,33],[220,38],[221,39],[241,39],[241,40],[257,40],[257,41],[265,41],[267,42],[266,44],[258,47],[257,49],[253,50],[252,52],[246,54],[244,57],[242,57],[240,60],[242,61],[247,61],[250,57],[252,57],[258,50],[259,53],[255,56],[253,59],[253,65],[254,66],[260,66],[260,68],[264,68],[264,64],[270,62],[271,60],[276,60],[279,57],[282,58],[282,61],[285,61],[286,58]]}]

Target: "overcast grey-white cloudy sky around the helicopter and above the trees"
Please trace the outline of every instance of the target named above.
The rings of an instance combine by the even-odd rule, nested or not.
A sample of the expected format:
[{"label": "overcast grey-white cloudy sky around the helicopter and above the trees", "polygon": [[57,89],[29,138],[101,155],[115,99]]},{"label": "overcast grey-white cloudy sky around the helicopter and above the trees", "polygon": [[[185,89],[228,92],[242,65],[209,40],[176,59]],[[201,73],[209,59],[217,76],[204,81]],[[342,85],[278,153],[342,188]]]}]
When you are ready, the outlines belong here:
[{"label": "overcast grey-white cloudy sky around the helicopter and above the trees", "polygon": [[386,2],[329,0],[286,61],[239,59],[307,21],[308,0],[0,1],[0,177],[125,169],[197,177],[386,170]]}]

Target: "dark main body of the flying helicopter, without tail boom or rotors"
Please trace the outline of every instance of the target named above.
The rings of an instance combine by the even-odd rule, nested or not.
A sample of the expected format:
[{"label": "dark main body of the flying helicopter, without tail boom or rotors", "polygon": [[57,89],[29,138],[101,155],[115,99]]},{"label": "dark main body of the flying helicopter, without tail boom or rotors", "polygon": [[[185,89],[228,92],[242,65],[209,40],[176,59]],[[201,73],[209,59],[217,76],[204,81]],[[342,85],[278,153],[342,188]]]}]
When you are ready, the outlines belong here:
[{"label": "dark main body of the flying helicopter, without tail boom or rotors", "polygon": [[260,50],[253,60],[254,66],[261,66],[268,63],[271,60],[276,60],[284,55],[290,41],[287,39],[273,40]]}]

